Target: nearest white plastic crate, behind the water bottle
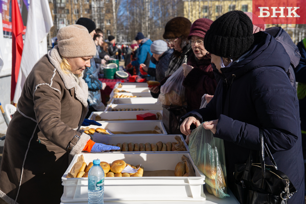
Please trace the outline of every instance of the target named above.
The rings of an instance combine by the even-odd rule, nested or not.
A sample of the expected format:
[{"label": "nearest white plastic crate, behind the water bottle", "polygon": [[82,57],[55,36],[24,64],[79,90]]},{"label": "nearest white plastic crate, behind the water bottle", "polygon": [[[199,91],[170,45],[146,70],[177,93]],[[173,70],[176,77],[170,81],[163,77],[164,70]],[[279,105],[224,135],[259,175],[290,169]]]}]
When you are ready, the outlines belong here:
[{"label": "nearest white plastic crate, behind the water bottle", "polygon": [[[194,165],[189,153],[118,153],[118,154],[83,154],[88,164],[94,159],[112,163],[122,159],[128,164],[141,164],[144,171],[174,170],[181,157],[189,158],[196,176],[160,176],[160,177],[105,177],[104,201],[203,201],[205,176]],[[88,201],[88,178],[66,178],[77,162],[76,154],[65,174],[62,176],[64,193],[62,202]]]}]

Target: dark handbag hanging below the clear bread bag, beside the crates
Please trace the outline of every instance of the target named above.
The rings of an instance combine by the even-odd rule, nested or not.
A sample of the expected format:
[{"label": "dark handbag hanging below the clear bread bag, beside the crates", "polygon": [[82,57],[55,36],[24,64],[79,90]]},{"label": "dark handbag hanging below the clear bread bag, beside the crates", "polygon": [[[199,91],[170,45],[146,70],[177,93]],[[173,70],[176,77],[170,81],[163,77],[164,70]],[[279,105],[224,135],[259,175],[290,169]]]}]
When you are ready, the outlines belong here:
[{"label": "dark handbag hanging below the clear bread bag, beside the crates", "polygon": [[[182,135],[180,130],[180,118],[187,113],[184,106],[165,106],[162,105],[162,122],[168,134]],[[183,135],[183,137],[186,135]],[[185,139],[185,138],[184,138]]]}]

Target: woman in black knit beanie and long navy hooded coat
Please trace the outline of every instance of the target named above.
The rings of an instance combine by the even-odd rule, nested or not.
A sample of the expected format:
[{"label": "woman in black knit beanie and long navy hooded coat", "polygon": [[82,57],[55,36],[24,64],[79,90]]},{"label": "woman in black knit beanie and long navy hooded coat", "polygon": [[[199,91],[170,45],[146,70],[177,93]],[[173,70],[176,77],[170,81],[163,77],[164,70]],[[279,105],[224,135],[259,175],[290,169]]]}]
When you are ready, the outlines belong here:
[{"label": "woman in black knit beanie and long navy hooded coat", "polygon": [[[290,58],[271,35],[252,31],[242,11],[225,13],[211,24],[204,46],[222,80],[205,108],[181,118],[180,129],[187,135],[208,121],[203,127],[224,140],[227,183],[235,194],[234,165],[245,164],[251,149],[260,150],[261,128],[278,170],[297,189],[287,203],[302,204],[304,162],[297,92],[286,74]],[[266,164],[271,165],[268,157]]]}]

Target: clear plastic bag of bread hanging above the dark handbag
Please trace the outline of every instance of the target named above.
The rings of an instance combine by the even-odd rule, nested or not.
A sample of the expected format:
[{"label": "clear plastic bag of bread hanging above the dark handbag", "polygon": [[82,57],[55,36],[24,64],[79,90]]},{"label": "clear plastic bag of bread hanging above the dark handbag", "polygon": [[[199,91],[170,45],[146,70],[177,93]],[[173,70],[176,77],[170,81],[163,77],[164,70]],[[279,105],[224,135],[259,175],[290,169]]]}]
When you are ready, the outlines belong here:
[{"label": "clear plastic bag of bread hanging above the dark handbag", "polygon": [[182,85],[185,79],[183,66],[181,65],[160,88],[157,104],[166,106],[186,106],[185,87]]}]

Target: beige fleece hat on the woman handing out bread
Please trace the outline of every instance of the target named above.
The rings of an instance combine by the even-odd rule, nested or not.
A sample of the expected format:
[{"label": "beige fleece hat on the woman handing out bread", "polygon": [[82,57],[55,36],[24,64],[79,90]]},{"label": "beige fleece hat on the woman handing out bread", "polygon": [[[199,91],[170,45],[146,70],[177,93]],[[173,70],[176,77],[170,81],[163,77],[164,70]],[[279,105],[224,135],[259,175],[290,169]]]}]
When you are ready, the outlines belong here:
[{"label": "beige fleece hat on the woman handing out bread", "polygon": [[97,48],[87,28],[69,25],[58,30],[58,50],[62,57],[95,56]]}]

